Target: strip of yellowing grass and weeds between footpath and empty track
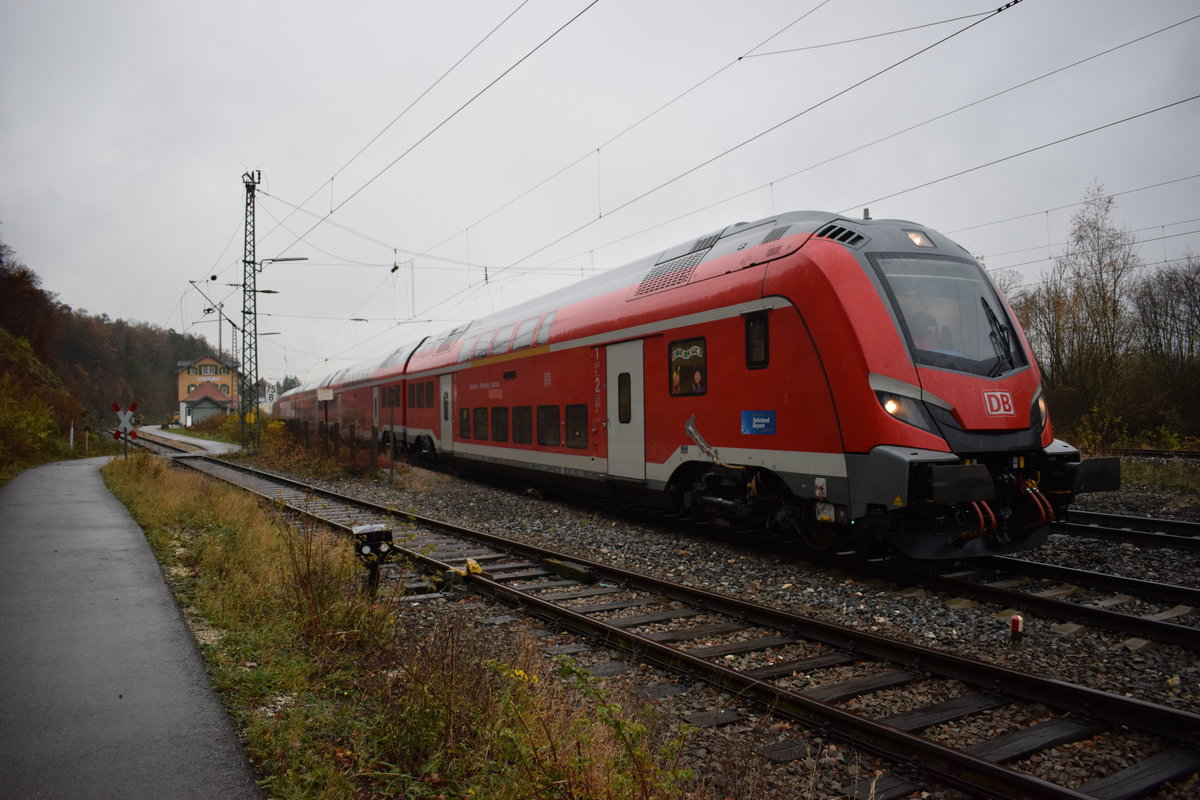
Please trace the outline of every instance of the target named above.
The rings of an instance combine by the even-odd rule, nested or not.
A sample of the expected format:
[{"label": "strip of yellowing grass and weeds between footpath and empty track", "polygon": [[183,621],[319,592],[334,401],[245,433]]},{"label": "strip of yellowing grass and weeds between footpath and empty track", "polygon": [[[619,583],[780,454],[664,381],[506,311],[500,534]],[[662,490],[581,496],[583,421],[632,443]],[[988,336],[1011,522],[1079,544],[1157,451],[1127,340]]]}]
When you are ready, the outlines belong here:
[{"label": "strip of yellowing grass and weeds between footpath and empty track", "polygon": [[[682,738],[452,607],[397,616],[344,541],[139,455],[104,468],[276,798],[696,796]],[[452,604],[451,604],[452,606]]]}]

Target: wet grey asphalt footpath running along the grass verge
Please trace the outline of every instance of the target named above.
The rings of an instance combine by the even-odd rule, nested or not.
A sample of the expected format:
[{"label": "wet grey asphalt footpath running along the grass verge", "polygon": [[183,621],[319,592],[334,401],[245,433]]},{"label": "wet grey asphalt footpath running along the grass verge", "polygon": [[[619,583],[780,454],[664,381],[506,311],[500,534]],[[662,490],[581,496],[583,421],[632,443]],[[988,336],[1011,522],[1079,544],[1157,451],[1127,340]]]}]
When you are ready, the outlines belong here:
[{"label": "wet grey asphalt footpath running along the grass verge", "polygon": [[0,489],[0,799],[262,799],[107,458]]}]

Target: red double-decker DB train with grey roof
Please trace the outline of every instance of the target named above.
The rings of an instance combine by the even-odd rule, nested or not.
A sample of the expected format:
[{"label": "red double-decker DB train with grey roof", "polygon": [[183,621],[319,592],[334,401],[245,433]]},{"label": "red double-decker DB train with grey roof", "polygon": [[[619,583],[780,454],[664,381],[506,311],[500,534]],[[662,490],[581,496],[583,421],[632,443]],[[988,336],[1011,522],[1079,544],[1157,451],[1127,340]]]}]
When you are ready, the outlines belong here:
[{"label": "red double-decker DB train with grey roof", "polygon": [[802,211],[738,223],[294,389],[277,416],[811,547],[1033,547],[1116,459],[1054,438],[966,249]]}]

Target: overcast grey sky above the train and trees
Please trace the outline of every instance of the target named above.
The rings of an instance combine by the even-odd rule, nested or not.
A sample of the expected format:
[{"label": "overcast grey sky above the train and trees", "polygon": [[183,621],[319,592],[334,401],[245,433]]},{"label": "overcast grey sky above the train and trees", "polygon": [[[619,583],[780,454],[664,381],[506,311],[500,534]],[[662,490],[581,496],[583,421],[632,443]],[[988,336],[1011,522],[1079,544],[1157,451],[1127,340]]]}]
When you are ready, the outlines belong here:
[{"label": "overcast grey sky above the train and trees", "polygon": [[0,237],[215,345],[188,282],[240,324],[262,170],[257,257],[308,259],[259,276],[272,380],[787,210],[1033,283],[1099,181],[1147,263],[1200,253],[1200,2],[998,5],[0,0]]}]

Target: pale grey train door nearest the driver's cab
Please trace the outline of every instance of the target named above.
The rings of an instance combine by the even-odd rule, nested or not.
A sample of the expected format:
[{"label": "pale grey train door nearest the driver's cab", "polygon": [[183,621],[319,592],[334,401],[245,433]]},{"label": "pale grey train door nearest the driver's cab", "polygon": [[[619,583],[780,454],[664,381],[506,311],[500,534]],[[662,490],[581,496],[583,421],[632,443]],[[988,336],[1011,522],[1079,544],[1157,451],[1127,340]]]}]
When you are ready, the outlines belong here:
[{"label": "pale grey train door nearest the driver's cab", "polygon": [[610,344],[607,354],[608,474],[646,480],[646,391],[642,342]]}]

